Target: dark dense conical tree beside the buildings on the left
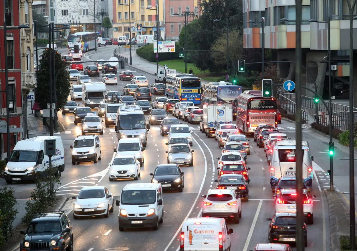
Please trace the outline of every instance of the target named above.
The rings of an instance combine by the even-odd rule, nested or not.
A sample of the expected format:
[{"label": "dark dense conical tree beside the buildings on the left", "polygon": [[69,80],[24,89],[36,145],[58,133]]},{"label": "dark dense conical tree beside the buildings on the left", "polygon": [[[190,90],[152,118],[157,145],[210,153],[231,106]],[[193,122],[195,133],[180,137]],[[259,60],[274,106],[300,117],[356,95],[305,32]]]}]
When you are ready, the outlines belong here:
[{"label": "dark dense conical tree beside the buildings on the left", "polygon": [[[35,101],[42,109],[47,109],[47,104],[50,103],[50,71],[49,71],[49,53],[50,50],[44,50],[40,59],[40,70],[36,73],[37,87],[35,88]],[[52,52],[51,52],[52,53]],[[55,75],[65,66],[62,61],[61,54],[55,53]],[[52,69],[53,70],[53,69]],[[53,77],[52,77],[53,78]],[[53,80],[53,79],[52,79]],[[66,104],[70,92],[70,78],[68,71],[62,69],[58,73],[56,79],[56,110],[59,111],[61,106]],[[53,90],[53,89],[52,89]],[[54,101],[54,99],[52,99]]]}]

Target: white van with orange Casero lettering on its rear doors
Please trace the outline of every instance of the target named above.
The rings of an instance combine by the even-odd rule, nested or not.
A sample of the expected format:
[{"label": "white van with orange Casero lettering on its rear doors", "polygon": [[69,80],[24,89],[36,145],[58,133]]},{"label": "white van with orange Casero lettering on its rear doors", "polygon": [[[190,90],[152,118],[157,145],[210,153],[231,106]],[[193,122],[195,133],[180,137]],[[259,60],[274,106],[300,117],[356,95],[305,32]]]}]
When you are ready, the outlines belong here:
[{"label": "white van with orange Casero lettering on its rear doors", "polygon": [[231,250],[233,229],[223,218],[188,218],[180,234],[180,251]]}]

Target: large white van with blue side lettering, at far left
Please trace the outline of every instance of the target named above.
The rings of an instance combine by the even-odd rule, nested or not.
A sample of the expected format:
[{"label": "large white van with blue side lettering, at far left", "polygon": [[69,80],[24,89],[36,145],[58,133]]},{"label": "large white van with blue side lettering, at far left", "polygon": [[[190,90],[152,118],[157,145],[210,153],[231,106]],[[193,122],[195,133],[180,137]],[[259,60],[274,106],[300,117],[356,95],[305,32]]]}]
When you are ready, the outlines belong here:
[{"label": "large white van with blue side lettering, at far left", "polygon": [[4,178],[7,184],[13,181],[35,180],[36,175],[46,175],[49,167],[49,157],[45,155],[45,139],[56,140],[56,155],[52,156],[52,167],[57,168],[56,176],[61,177],[65,170],[65,151],[62,138],[59,136],[38,136],[20,140],[12,150],[11,158],[7,162]]}]

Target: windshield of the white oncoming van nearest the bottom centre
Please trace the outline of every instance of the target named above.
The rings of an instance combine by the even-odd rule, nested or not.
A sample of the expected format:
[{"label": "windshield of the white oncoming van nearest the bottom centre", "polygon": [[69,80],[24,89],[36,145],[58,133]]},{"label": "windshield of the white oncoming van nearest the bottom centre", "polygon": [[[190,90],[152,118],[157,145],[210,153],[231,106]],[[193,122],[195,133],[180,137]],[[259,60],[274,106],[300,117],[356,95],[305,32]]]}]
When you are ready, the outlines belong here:
[{"label": "windshield of the white oncoming van nearest the bottom centre", "polygon": [[130,190],[122,191],[121,204],[145,205],[154,204],[156,201],[156,190]]}]

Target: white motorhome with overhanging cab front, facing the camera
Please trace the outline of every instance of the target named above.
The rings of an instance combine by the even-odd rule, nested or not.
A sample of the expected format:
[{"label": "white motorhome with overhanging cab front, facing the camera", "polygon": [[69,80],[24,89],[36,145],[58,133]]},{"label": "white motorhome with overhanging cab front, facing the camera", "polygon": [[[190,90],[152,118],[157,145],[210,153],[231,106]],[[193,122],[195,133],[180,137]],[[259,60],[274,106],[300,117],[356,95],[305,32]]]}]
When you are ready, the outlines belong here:
[{"label": "white motorhome with overhanging cab front, facing the camera", "polygon": [[104,102],[105,83],[82,83],[82,103],[90,108],[99,107]]}]

